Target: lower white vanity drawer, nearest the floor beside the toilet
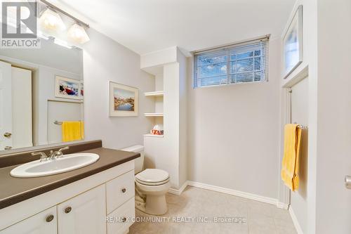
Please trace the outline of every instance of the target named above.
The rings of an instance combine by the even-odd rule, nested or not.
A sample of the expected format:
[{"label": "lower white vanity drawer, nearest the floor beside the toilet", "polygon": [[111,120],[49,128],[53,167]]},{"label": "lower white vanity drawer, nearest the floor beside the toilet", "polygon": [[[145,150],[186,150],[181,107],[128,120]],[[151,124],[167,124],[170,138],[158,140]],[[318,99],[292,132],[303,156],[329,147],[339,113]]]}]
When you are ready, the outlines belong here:
[{"label": "lower white vanity drawer, nearest the floor beside the toilet", "polygon": [[124,233],[135,218],[135,198],[131,197],[114,212],[107,216],[107,234]]}]

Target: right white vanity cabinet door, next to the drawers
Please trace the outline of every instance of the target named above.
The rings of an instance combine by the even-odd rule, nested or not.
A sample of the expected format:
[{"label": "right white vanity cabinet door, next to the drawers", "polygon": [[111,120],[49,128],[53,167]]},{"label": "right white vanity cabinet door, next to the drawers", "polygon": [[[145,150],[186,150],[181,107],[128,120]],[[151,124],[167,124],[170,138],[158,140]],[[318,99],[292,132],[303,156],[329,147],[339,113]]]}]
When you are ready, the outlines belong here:
[{"label": "right white vanity cabinet door, next to the drawers", "polygon": [[105,184],[103,184],[58,204],[58,233],[106,233],[105,217]]}]

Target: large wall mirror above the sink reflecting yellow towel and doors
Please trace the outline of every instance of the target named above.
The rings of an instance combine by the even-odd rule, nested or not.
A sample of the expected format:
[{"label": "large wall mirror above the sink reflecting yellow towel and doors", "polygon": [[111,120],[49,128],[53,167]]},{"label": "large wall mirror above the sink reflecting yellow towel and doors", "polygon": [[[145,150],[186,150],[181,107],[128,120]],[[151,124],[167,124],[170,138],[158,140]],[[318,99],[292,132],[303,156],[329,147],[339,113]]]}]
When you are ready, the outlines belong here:
[{"label": "large wall mirror above the sink reflecting yellow towel and doors", "polygon": [[0,50],[0,150],[84,138],[83,51],[41,39]]}]

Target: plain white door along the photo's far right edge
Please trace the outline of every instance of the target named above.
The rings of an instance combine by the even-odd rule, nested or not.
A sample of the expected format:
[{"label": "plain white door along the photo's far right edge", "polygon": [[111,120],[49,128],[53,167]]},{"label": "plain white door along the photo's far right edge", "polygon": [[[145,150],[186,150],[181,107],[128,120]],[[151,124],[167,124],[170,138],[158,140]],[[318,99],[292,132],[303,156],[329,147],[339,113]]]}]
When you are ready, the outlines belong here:
[{"label": "plain white door along the photo's far right edge", "polygon": [[351,233],[351,1],[318,1],[316,233]]}]

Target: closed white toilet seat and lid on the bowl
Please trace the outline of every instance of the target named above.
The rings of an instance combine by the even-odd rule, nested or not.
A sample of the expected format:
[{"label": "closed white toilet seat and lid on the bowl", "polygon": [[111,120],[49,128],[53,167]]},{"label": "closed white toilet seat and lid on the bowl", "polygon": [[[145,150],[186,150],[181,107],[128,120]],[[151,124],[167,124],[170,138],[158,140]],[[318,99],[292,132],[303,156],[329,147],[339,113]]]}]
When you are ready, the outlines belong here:
[{"label": "closed white toilet seat and lid on the bowl", "polygon": [[169,181],[169,174],[161,169],[145,169],[135,175],[135,181],[145,186],[159,186]]}]

